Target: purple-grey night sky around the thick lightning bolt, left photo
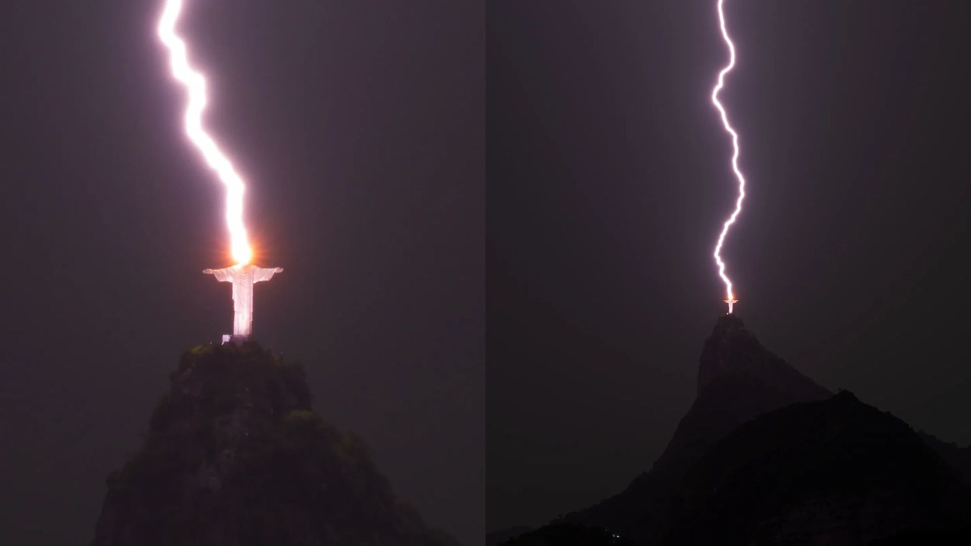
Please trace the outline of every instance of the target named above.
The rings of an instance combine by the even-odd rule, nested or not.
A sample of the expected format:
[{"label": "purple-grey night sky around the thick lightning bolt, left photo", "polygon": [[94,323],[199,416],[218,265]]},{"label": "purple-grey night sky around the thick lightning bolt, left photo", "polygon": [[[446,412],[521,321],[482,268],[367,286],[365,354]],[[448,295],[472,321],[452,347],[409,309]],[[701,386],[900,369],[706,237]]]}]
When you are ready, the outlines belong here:
[{"label": "purple-grey night sky around the thick lightning bolt, left photo", "polygon": [[[87,543],[185,348],[231,331],[222,187],[184,138],[160,0],[0,26],[0,543]],[[198,0],[207,124],[250,182],[254,337],[395,492],[485,531],[485,8]]]}]

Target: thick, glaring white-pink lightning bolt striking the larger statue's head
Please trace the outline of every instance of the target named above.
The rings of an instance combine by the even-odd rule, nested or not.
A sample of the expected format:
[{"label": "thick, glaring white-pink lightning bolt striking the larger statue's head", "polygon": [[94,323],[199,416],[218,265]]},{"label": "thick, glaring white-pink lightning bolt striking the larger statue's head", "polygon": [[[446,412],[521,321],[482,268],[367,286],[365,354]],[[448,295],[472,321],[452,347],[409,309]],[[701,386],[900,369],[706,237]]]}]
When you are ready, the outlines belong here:
[{"label": "thick, glaring white-pink lightning bolt striking the larger statue's head", "polygon": [[185,108],[185,134],[199,149],[211,169],[217,172],[219,181],[226,187],[226,225],[229,228],[230,251],[239,264],[249,263],[252,257],[243,223],[243,193],[246,185],[233,168],[229,159],[219,150],[218,144],[202,126],[202,113],[208,102],[206,78],[188,64],[185,42],[175,32],[176,22],[182,14],[183,0],[166,0],[165,9],[158,22],[158,37],[169,50],[172,76],[185,86],[188,106]]}]

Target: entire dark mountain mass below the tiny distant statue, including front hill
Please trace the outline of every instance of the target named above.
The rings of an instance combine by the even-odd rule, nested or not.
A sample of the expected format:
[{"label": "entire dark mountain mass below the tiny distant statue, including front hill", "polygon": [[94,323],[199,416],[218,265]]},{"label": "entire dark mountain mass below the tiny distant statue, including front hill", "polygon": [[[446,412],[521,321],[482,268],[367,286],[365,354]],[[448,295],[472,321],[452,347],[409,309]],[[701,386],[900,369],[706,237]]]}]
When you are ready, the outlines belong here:
[{"label": "entire dark mountain mass below the tiny distant statue, including front hill", "polygon": [[650,471],[506,544],[547,544],[548,530],[565,524],[666,546],[865,545],[960,533],[964,520],[948,507],[969,498],[968,451],[849,392],[833,395],[723,315],[702,348],[696,398]]}]

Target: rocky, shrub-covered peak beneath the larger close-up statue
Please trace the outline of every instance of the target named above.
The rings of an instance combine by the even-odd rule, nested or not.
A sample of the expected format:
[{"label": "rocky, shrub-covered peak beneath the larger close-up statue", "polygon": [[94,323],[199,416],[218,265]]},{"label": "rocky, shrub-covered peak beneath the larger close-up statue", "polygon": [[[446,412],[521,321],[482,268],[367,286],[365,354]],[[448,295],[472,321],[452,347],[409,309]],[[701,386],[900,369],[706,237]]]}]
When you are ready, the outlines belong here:
[{"label": "rocky, shrub-covered peak beneath the larger close-up statue", "polygon": [[254,342],[184,353],[142,449],[108,478],[92,546],[453,546],[367,448],[311,410],[303,368]]}]

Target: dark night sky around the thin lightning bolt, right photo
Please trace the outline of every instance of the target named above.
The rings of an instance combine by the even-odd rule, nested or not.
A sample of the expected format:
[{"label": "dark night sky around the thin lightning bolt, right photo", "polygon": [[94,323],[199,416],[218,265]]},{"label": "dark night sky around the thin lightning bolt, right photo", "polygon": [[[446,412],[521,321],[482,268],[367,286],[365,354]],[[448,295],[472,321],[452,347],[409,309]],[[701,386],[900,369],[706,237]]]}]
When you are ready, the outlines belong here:
[{"label": "dark night sky around the thin lightning bolt, right photo", "polygon": [[[965,1],[729,0],[736,313],[823,386],[971,443]],[[648,470],[694,397],[735,186],[714,0],[492,1],[487,527]]]}]

